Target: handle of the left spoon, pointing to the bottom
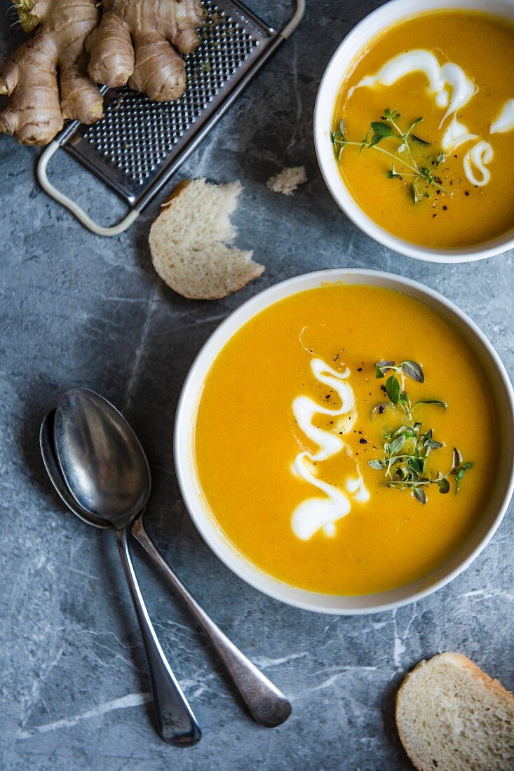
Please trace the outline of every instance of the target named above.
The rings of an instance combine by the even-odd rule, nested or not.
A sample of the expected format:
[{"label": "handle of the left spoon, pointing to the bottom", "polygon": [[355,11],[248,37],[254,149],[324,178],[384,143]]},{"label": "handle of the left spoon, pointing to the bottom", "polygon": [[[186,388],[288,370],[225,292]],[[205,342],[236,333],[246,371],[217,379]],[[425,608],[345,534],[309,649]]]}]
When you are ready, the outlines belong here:
[{"label": "handle of the left spoon, pointing to the bottom", "polygon": [[115,530],[116,540],[147,653],[157,728],[165,742],[181,746],[196,744],[201,739],[201,731],[180,685],[171,672],[150,621],[130,558],[127,529]]}]

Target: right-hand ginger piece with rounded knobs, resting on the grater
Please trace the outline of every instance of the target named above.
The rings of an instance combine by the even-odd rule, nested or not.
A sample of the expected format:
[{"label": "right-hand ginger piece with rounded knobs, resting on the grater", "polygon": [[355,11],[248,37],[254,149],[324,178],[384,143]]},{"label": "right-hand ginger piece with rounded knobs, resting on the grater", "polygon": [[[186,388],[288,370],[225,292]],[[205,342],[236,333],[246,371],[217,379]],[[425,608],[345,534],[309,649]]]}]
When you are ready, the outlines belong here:
[{"label": "right-hand ginger piece with rounded knobs, resting on the grater", "polygon": [[104,86],[144,91],[156,102],[182,96],[185,62],[198,47],[204,19],[199,0],[103,0],[100,26],[90,35],[88,72]]}]

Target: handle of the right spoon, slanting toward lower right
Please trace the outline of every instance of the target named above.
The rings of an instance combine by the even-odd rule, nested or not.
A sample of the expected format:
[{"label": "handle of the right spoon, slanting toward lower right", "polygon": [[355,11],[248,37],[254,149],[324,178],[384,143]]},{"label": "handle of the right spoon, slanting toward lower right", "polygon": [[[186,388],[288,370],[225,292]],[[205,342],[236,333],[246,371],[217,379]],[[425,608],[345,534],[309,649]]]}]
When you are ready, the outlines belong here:
[{"label": "handle of the right spoon, slanting toward lower right", "polygon": [[180,594],[198,624],[214,645],[221,661],[228,669],[235,687],[242,695],[252,717],[260,726],[274,728],[285,722],[291,714],[286,696],[259,669],[235,647],[234,643],[212,621],[211,617],[188,592],[180,578],[174,574],[161,552],[144,529],[141,517],[132,524],[132,533],[147,551],[154,563],[166,574],[175,591]]}]

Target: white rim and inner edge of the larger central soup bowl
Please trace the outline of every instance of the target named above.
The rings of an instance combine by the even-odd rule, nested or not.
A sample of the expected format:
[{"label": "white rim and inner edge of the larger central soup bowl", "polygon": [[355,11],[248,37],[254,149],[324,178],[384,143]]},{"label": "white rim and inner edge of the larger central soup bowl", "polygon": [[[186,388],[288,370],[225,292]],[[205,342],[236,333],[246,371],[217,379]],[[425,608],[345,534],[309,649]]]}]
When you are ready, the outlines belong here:
[{"label": "white rim and inner edge of the larger central soup bowl", "polygon": [[[194,378],[197,375],[198,370],[203,369],[205,372],[202,376],[203,384],[205,375],[207,375],[211,369],[211,366],[215,362],[219,352],[221,352],[221,349],[233,335],[245,325],[245,323],[249,322],[255,315],[258,315],[260,311],[268,308],[270,305],[274,305],[275,302],[286,296],[295,295],[301,291],[306,291],[309,288],[323,286],[326,283],[341,283],[348,277],[358,279],[357,281],[350,281],[350,283],[354,284],[366,284],[368,280],[371,285],[388,286],[388,282],[392,282],[393,284],[397,284],[397,286],[394,287],[396,291],[404,291],[406,294],[411,294],[411,296],[424,302],[437,313],[440,311],[434,306],[442,305],[443,308],[445,308],[445,311],[449,312],[449,315],[456,317],[458,321],[461,322],[461,325],[471,333],[471,337],[475,338],[478,344],[482,345],[482,348],[485,349],[486,354],[489,355],[492,366],[486,371],[486,375],[492,379],[492,372],[494,370],[495,374],[499,376],[505,389],[509,415],[505,416],[505,420],[502,421],[502,424],[507,426],[507,440],[512,446],[512,442],[514,441],[514,390],[512,389],[512,383],[510,382],[509,375],[506,372],[499,354],[495,351],[492,343],[489,342],[489,339],[472,318],[466,315],[453,301],[445,298],[445,296],[441,295],[438,291],[427,287],[425,284],[421,284],[419,281],[414,281],[411,278],[405,278],[399,274],[379,271],[372,268],[326,268],[319,271],[310,271],[306,274],[297,274],[292,278],[288,278],[285,281],[279,281],[271,287],[259,292],[252,298],[249,298],[249,300],[245,301],[238,308],[235,308],[235,310],[232,311],[217,328],[215,328],[214,332],[208,336],[191,364],[188,375],[184,379],[178,399],[174,421],[174,467],[184,505],[186,510],[188,510],[188,514],[198,530],[198,533],[218,559],[220,559],[230,571],[241,578],[242,581],[245,581],[246,584],[249,584],[257,591],[261,591],[262,594],[266,594],[275,600],[303,610],[334,615],[364,615],[390,611],[394,608],[401,608],[403,605],[421,600],[429,594],[438,591],[438,589],[442,588],[450,581],[453,581],[455,577],[472,564],[476,557],[481,554],[482,550],[485,549],[487,544],[489,544],[489,541],[498,529],[505,516],[506,510],[509,507],[512,493],[514,492],[514,465],[512,463],[510,464],[508,477],[506,475],[505,493],[485,534],[483,534],[478,544],[472,548],[469,554],[459,561],[450,571],[439,577],[438,580],[423,586],[423,579],[418,579],[417,581],[411,582],[411,584],[404,584],[396,589],[376,594],[329,595],[300,590],[299,588],[293,587],[291,584],[279,581],[249,561],[244,554],[238,552],[238,548],[235,547],[235,545],[228,540],[228,537],[222,533],[221,527],[215,520],[215,514],[208,510],[207,503],[202,503],[198,475],[195,476],[196,472],[191,466],[190,456],[190,453],[192,454],[192,438],[196,419],[196,409],[199,399],[201,398],[201,387],[196,393],[193,392],[191,394],[190,392],[195,387]],[[306,283],[309,284],[309,286],[303,285]],[[299,286],[299,284],[301,285]],[[294,291],[289,291],[289,289],[295,287],[298,288]],[[282,291],[284,290],[286,290],[286,294],[282,294]],[[235,328],[227,334],[227,330],[234,327],[234,325]],[[192,409],[188,409],[188,400],[191,400],[193,405]],[[509,420],[507,420],[507,417]],[[195,487],[197,490],[195,490]],[[217,537],[213,538],[212,534],[215,531],[217,532]],[[472,531],[470,531],[470,534],[471,533]],[[228,548],[222,549],[221,544],[225,544],[225,547]],[[451,555],[446,561],[450,559]],[[435,571],[441,571],[441,568],[444,567],[446,561],[439,567],[436,567]],[[380,601],[381,596],[394,594],[399,591],[406,591],[411,585],[413,587],[418,587],[415,591],[412,591],[411,594],[405,594],[404,597],[391,601]],[[299,596],[286,598],[283,596],[283,591],[289,591],[294,595]],[[363,598],[377,598],[377,601],[373,604],[365,604],[362,607],[336,608],[322,604],[322,598],[330,598],[333,601],[341,598],[352,601],[358,601]]]}]

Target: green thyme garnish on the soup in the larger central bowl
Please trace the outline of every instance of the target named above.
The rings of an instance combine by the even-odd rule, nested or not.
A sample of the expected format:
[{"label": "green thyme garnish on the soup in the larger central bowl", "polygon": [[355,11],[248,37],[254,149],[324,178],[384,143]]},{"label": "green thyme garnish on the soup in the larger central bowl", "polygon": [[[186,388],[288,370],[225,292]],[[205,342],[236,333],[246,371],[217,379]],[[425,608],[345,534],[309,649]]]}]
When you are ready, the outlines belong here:
[{"label": "green thyme garnish on the soup in the larger central bowl", "polygon": [[[421,399],[411,404],[411,399],[405,391],[405,377],[417,382],[424,382],[424,374],[421,365],[407,359],[400,364],[382,359],[375,362],[375,376],[382,379],[387,372],[393,372],[385,383],[385,392],[389,402],[382,402],[374,407],[372,416],[381,414],[387,407],[394,407],[406,413],[412,420],[411,412],[419,404],[435,404],[447,408],[446,402],[441,399]],[[384,386],[383,386],[384,388]],[[395,487],[397,490],[411,490],[411,495],[419,503],[427,502],[427,494],[424,487],[435,484],[442,494],[450,490],[449,479],[455,476],[455,489],[458,492],[460,483],[465,473],[472,468],[472,463],[464,462],[462,453],[455,447],[453,450],[451,469],[448,473],[437,472],[435,476],[425,473],[428,456],[432,450],[445,446],[434,438],[434,430],[422,430],[422,423],[417,421],[410,426],[400,426],[392,433],[385,433],[384,457],[370,460],[368,465],[372,469],[385,470],[386,487]]]}]

